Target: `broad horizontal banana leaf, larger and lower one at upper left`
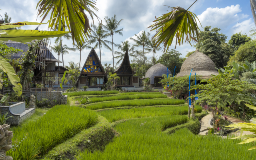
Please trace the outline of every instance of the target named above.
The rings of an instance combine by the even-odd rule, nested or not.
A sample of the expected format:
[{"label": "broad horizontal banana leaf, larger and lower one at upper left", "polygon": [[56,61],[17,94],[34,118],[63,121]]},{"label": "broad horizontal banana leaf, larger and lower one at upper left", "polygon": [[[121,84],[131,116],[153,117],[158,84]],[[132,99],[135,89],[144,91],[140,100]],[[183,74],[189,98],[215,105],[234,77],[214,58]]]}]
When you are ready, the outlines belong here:
[{"label": "broad horizontal banana leaf, larger and lower one at upper left", "polygon": [[12,40],[12,41],[21,42],[21,43],[30,42],[35,39],[42,40],[44,38],[61,37],[69,33],[64,31],[40,31],[40,30],[5,30],[4,32],[0,32],[0,40],[2,41]]}]

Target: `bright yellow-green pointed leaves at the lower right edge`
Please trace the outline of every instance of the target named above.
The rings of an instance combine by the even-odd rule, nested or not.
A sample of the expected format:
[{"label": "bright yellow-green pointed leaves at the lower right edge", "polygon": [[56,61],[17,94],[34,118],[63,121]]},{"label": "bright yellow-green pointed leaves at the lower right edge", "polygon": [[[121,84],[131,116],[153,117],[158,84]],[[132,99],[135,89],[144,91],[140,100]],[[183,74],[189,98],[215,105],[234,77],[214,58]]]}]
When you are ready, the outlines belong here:
[{"label": "bright yellow-green pointed leaves at the lower right edge", "polygon": [[[255,106],[252,106],[249,104],[245,104],[245,105],[252,110],[256,110]],[[241,128],[241,130],[238,130],[238,131],[240,131],[241,136],[230,138],[230,139],[242,138],[242,142],[240,142],[238,144],[246,144],[246,143],[250,143],[250,142],[256,142],[256,124],[254,124],[254,123],[235,123],[235,124],[231,124],[226,127],[229,127],[231,129]],[[250,131],[253,134],[242,135],[244,131]],[[256,145],[253,146],[252,148],[249,148],[248,150],[254,150],[254,149],[256,149]]]}]

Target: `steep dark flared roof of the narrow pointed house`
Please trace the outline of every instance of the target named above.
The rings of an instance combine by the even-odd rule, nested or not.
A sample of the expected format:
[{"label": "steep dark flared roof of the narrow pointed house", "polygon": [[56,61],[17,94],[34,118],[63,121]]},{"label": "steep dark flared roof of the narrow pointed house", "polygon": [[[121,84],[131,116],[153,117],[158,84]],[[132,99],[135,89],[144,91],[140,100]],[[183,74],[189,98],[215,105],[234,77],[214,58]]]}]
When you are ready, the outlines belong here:
[{"label": "steep dark flared roof of the narrow pointed house", "polygon": [[132,67],[130,65],[128,50],[126,50],[122,63],[114,71],[114,73],[116,73],[116,74],[135,74],[135,72],[132,71]]}]

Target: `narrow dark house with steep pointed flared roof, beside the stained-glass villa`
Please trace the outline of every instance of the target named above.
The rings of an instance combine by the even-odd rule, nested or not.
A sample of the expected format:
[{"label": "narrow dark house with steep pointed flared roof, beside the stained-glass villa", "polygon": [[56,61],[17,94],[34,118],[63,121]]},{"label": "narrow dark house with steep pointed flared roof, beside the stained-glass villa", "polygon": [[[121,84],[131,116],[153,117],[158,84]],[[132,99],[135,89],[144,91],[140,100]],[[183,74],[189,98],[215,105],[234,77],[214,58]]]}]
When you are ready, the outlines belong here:
[{"label": "narrow dark house with steep pointed flared roof, beside the stained-glass villa", "polygon": [[114,71],[120,80],[115,82],[117,87],[138,87],[139,76],[134,76],[135,72],[132,70],[130,65],[128,50],[124,54],[124,59],[120,66]]}]

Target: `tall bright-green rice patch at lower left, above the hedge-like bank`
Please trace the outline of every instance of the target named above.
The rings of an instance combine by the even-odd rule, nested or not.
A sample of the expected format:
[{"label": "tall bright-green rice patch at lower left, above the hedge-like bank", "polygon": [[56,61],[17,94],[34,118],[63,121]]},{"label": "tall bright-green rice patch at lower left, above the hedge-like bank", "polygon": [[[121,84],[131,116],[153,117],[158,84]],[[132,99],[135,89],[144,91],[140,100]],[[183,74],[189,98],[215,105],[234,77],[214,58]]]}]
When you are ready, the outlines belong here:
[{"label": "tall bright-green rice patch at lower left, above the hedge-like bank", "polygon": [[13,146],[19,146],[15,147],[16,151],[10,150],[8,155],[14,160],[38,159],[63,140],[93,126],[97,121],[98,114],[91,110],[68,105],[54,106],[37,120],[12,128]]}]

